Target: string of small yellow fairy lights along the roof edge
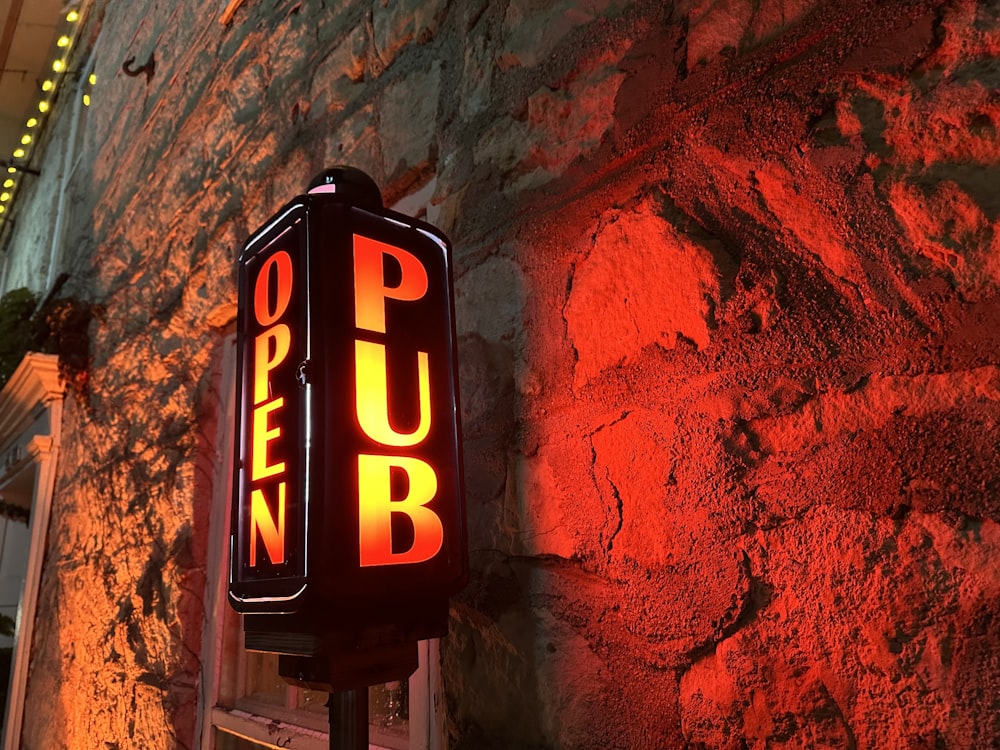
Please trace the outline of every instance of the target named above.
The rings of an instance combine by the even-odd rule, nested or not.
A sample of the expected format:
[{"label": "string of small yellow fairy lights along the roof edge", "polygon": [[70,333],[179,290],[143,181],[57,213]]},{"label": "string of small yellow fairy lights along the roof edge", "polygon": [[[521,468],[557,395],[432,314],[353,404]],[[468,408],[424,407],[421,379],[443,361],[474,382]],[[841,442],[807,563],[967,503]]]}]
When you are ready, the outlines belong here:
[{"label": "string of small yellow fairy lights along the roof edge", "polygon": [[[11,152],[9,159],[2,159],[0,163],[6,164],[6,169],[0,180],[0,229],[11,215],[11,209],[17,197],[18,188],[21,186],[25,174],[37,174],[37,171],[28,167],[34,149],[38,147],[42,128],[48,119],[52,106],[55,103],[56,94],[62,88],[64,79],[69,73],[69,55],[76,43],[77,33],[80,28],[80,11],[76,8],[68,10],[60,21],[59,35],[56,39],[55,51],[52,55],[52,65],[49,74],[39,83],[39,97],[37,101],[37,111],[33,112],[24,124],[24,132],[21,135],[20,144]],[[91,73],[88,76],[87,84],[82,92],[83,105],[90,106],[90,91],[97,83],[96,76]],[[0,167],[0,170],[3,170]]]}]

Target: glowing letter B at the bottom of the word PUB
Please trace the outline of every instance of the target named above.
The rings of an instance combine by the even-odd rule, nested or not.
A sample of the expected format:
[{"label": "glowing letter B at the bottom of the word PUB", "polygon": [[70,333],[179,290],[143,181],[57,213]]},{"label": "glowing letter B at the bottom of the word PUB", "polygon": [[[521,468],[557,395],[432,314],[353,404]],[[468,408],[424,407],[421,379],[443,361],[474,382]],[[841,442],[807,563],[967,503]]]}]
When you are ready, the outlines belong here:
[{"label": "glowing letter B at the bottom of the word PUB", "polygon": [[[405,472],[406,496],[392,497],[392,470]],[[358,456],[360,497],[359,542],[361,567],[424,562],[444,544],[444,527],[427,507],[437,493],[437,475],[426,461],[407,456]],[[405,513],[413,523],[413,544],[404,552],[392,551],[392,514]]]}]

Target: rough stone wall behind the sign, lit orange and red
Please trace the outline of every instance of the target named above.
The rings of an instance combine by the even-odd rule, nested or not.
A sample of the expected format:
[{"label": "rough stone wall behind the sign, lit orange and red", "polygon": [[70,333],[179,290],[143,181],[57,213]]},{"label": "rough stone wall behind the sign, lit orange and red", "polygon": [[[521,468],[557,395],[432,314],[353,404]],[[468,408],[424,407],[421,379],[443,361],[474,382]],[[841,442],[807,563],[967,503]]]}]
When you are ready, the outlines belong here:
[{"label": "rough stone wall behind the sign, lit orange and red", "polygon": [[456,248],[452,747],[1000,742],[993,4],[216,5],[89,17],[26,748],[194,746],[235,253],[334,163]]}]

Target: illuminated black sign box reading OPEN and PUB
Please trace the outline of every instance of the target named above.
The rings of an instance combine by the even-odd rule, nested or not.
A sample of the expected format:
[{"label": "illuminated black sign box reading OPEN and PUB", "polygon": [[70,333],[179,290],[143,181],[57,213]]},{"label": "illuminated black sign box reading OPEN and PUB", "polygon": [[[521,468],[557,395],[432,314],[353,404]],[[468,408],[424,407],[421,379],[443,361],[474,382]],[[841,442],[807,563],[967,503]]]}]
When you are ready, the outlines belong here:
[{"label": "illuminated black sign box reading OPEN and PUB", "polygon": [[[239,258],[229,597],[296,628],[445,603],[467,572],[448,240],[328,170]],[[264,618],[267,619],[267,618]],[[272,621],[281,618],[270,618]],[[318,626],[316,626],[318,627]]]}]

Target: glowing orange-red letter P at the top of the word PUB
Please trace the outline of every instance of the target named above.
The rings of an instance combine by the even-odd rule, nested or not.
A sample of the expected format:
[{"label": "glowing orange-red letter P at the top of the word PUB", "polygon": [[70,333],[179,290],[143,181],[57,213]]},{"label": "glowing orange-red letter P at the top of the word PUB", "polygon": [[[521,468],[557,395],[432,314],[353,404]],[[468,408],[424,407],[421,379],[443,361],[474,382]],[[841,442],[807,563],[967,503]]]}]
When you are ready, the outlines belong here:
[{"label": "glowing orange-red letter P at the top of the word PUB", "polygon": [[[399,284],[385,284],[384,256],[399,263]],[[402,248],[354,236],[354,310],[358,328],[385,333],[385,300],[413,302],[427,293],[427,270]]]}]

